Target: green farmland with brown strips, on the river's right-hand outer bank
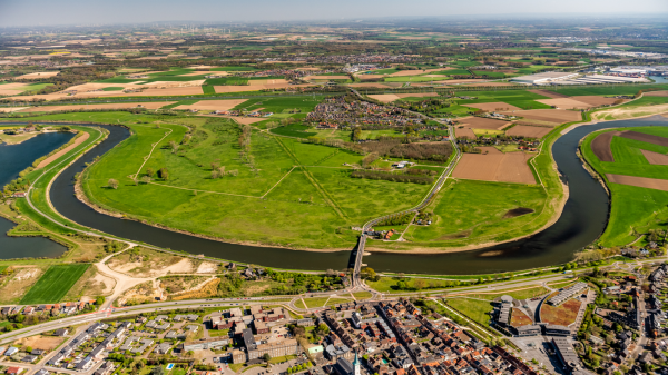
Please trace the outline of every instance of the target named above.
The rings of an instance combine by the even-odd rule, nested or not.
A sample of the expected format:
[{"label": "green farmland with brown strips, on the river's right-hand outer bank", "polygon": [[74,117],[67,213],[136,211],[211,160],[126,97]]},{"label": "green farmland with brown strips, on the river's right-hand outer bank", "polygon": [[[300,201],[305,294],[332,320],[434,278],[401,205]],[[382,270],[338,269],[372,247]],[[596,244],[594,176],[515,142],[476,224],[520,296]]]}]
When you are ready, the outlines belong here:
[{"label": "green farmland with brown strips, on the river's right-hand outer bank", "polygon": [[629,244],[650,229],[661,229],[668,219],[668,166],[647,157],[655,160],[654,155],[668,154],[668,147],[660,145],[666,141],[666,127],[647,127],[595,132],[582,142],[584,159],[603,176],[611,193],[610,221],[599,239],[602,246]]}]

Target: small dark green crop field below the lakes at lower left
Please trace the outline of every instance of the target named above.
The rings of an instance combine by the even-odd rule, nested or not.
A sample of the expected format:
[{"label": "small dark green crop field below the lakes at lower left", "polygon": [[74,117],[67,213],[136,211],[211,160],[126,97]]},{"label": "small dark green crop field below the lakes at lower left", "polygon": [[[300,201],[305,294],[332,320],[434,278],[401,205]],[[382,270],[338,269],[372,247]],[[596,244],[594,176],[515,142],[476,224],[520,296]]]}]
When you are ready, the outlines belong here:
[{"label": "small dark green crop field below the lakes at lower left", "polygon": [[23,296],[21,304],[36,305],[60,302],[88,267],[90,267],[88,264],[49,267]]}]

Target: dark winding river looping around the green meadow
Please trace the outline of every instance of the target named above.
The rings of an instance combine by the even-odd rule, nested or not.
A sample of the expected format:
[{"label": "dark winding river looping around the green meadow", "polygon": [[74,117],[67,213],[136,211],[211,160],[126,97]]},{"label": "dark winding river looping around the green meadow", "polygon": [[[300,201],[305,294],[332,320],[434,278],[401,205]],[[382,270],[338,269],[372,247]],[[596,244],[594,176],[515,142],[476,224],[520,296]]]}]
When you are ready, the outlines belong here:
[{"label": "dark winding river looping around the green meadow", "polygon": [[[584,170],[577,157],[579,140],[600,129],[650,125],[668,126],[668,119],[656,116],[580,126],[560,137],[552,151],[563,179],[568,181],[569,199],[558,221],[534,236],[484,249],[451,254],[374,253],[365,256],[364,263],[380,272],[450,275],[510,272],[567,263],[573,258],[576,251],[600,236],[606,228],[609,213],[609,200],[605,189]],[[52,185],[51,201],[63,216],[119,237],[234,261],[292,269],[347,267],[350,251],[311,253],[225,244],[96,213],[73,196],[72,178],[84,169],[86,162],[104,155],[129,137],[129,131],[125,128],[105,128],[110,131],[107,140],[68,167]]]}]

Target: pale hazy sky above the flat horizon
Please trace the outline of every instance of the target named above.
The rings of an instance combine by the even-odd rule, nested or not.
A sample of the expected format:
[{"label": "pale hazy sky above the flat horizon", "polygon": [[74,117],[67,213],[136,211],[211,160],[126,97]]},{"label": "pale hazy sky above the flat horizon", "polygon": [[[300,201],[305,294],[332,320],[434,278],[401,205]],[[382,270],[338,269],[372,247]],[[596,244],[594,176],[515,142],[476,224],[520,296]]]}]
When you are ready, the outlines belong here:
[{"label": "pale hazy sky above the flat horizon", "polygon": [[484,14],[661,14],[668,0],[0,0],[7,26],[248,22]]}]

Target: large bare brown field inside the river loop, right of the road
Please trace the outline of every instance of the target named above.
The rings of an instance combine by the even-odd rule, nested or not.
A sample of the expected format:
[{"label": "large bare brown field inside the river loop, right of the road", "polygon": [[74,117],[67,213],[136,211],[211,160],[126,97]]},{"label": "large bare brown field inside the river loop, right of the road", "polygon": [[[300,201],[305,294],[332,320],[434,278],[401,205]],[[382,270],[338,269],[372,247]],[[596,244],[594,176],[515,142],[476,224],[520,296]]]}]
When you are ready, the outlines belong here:
[{"label": "large bare brown field inside the river loop, right of the road", "polygon": [[[527,162],[532,155],[502,154],[493,147],[481,147],[488,155],[464,154],[452,177],[483,181],[536,184]],[[489,150],[488,150],[489,149]]]}]

